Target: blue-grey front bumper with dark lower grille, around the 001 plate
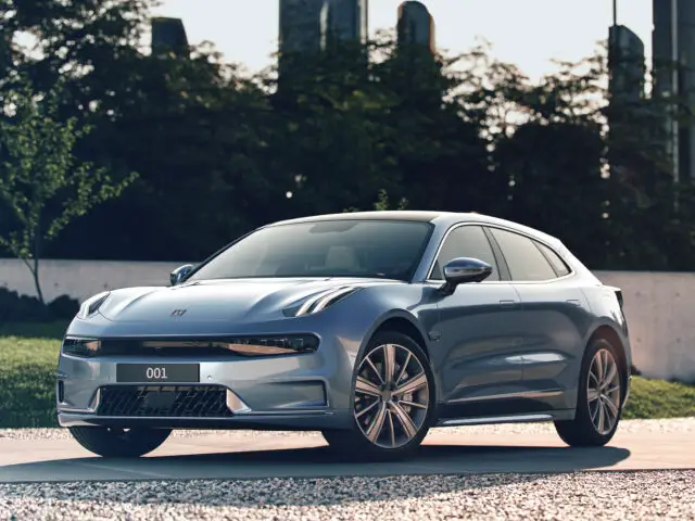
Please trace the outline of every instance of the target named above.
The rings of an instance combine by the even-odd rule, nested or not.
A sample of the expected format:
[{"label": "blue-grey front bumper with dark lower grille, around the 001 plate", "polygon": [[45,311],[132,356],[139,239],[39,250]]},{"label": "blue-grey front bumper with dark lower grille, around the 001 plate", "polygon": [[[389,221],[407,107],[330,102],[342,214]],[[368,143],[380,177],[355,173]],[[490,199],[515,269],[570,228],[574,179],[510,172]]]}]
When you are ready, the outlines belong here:
[{"label": "blue-grey front bumper with dark lower grille, around the 001 plate", "polygon": [[[321,430],[350,427],[352,361],[337,341],[316,353],[198,360],[61,353],[62,427]],[[118,364],[200,364],[198,382],[119,382]]]}]

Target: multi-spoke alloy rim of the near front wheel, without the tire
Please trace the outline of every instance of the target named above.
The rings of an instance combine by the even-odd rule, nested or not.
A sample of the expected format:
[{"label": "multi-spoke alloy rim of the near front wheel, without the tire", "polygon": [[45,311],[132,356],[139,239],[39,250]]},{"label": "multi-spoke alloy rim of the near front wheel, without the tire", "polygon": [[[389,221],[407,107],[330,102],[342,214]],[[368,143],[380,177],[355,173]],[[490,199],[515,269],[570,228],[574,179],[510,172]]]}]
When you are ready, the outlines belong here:
[{"label": "multi-spoke alloy rim of the near front wheel, without the tire", "polygon": [[418,357],[399,344],[383,344],[362,360],[354,416],[363,434],[382,448],[399,448],[422,428],[430,406],[427,373]]}]

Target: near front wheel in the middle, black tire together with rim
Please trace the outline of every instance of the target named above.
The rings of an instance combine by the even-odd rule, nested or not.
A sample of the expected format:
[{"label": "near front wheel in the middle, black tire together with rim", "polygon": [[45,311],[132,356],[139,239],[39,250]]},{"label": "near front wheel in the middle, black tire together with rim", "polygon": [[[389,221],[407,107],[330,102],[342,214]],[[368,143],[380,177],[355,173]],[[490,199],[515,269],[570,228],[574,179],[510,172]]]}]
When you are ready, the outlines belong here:
[{"label": "near front wheel in the middle, black tire together with rim", "polygon": [[[391,379],[386,378],[389,353],[393,355],[388,357],[393,360],[389,365],[394,374]],[[366,386],[365,380],[372,386]],[[380,390],[379,396],[370,394],[375,386]],[[323,432],[334,453],[350,460],[392,460],[412,455],[427,435],[435,407],[434,377],[417,342],[394,331],[375,334],[356,364],[351,406],[351,429]]]}]

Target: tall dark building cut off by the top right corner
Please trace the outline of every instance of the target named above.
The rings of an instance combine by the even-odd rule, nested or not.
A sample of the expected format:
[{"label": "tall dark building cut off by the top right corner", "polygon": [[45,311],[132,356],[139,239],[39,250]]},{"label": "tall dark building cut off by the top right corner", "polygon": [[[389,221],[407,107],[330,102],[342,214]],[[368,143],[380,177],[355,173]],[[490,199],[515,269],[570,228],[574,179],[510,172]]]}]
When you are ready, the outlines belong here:
[{"label": "tall dark building cut off by the top right corner", "polygon": [[[662,100],[674,97],[682,106],[695,106],[695,2],[653,0],[653,13],[654,94]],[[694,180],[695,122],[679,125],[672,114],[673,105],[665,106],[673,176],[675,180]]]}]

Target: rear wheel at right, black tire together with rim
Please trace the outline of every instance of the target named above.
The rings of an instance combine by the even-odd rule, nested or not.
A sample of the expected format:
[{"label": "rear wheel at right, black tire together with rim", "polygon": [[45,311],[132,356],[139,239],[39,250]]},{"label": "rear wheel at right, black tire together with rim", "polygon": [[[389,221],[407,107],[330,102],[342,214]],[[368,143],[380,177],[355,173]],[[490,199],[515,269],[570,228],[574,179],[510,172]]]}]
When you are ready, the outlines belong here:
[{"label": "rear wheel at right, black tire together with rim", "polygon": [[[597,361],[599,356],[601,366]],[[604,376],[608,378],[598,382],[598,386],[605,385],[605,387],[602,392],[596,392],[596,373],[602,370],[602,367],[607,367]],[[615,374],[611,368],[615,368]],[[582,359],[574,419],[555,422],[555,429],[563,441],[572,447],[606,445],[620,423],[627,380],[626,370],[620,364],[616,347],[604,339],[593,341]],[[599,415],[603,415],[603,424],[599,423]]]}]

